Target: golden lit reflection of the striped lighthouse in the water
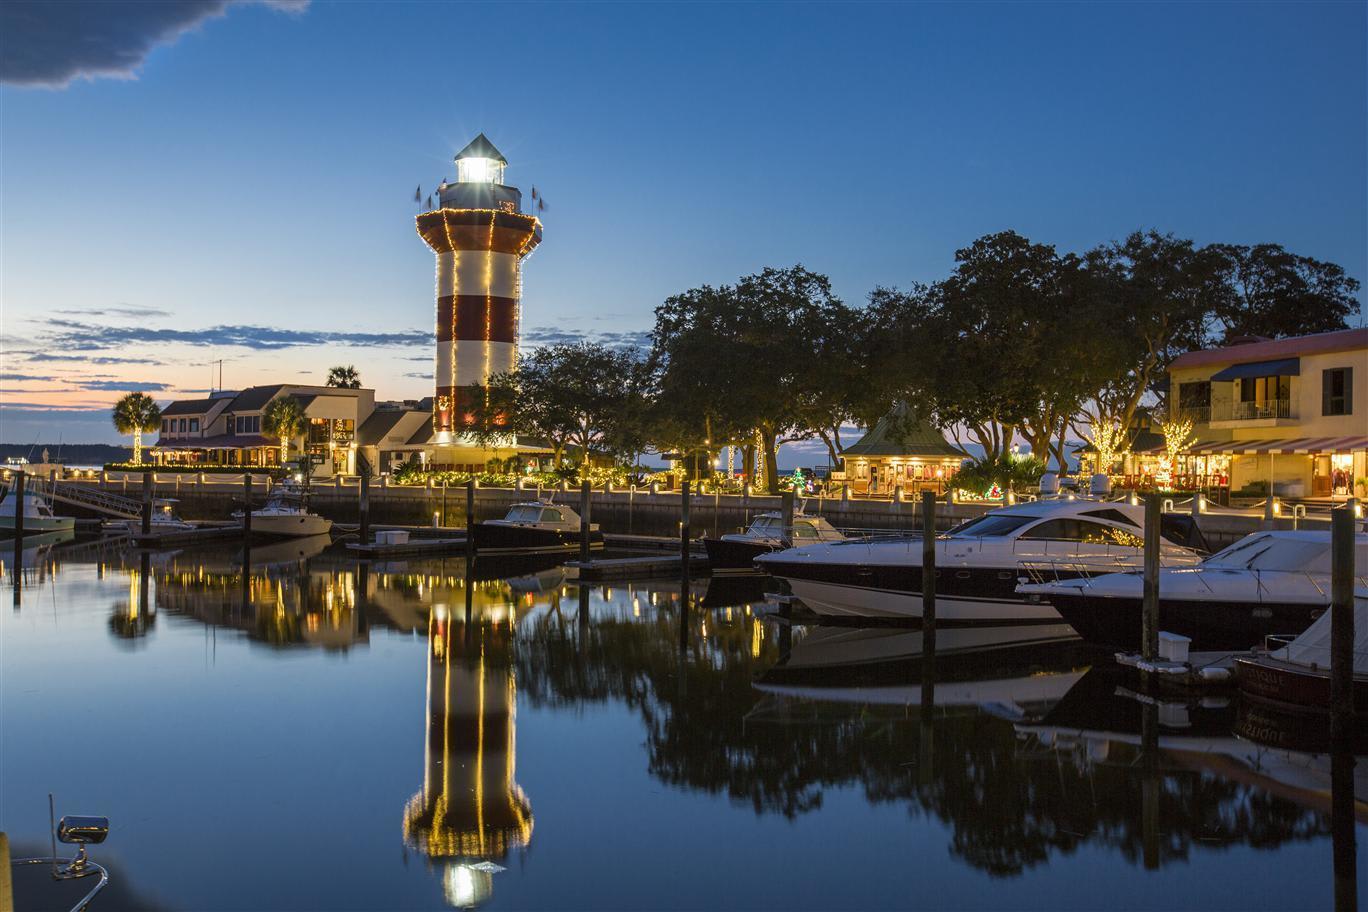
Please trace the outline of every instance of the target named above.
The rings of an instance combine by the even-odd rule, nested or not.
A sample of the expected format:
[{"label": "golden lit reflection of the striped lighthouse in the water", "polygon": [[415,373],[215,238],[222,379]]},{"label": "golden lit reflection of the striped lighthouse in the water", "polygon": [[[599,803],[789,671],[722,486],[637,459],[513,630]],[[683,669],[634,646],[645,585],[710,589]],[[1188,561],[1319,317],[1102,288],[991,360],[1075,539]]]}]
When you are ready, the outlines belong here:
[{"label": "golden lit reflection of the striped lighthouse in the water", "polygon": [[532,805],[513,779],[513,644],[520,606],[534,596],[465,580],[430,596],[423,788],[404,808],[404,841],[445,863],[447,902],[469,908],[532,838]]}]

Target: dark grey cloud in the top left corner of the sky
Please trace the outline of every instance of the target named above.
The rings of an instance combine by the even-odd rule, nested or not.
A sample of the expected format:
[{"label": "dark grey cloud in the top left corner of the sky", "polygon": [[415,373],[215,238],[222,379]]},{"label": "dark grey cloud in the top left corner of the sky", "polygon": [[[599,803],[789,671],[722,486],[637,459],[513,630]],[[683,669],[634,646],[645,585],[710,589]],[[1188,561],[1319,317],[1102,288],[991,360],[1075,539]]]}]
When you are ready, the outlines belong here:
[{"label": "dark grey cloud in the top left corner of the sky", "polygon": [[[155,48],[248,0],[5,0],[0,82],[64,89],[75,79],[134,79]],[[257,0],[302,12],[308,0]]]}]

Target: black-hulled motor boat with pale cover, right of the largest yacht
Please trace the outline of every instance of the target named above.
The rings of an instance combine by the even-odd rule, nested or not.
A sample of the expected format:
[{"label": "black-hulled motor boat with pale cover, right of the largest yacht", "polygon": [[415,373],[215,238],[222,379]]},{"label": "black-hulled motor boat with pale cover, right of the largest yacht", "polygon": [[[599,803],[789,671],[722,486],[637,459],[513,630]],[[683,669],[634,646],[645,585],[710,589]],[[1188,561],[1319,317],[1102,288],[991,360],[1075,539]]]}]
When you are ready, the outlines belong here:
[{"label": "black-hulled motor boat with pale cover, right of the largest yacht", "polygon": [[[1354,539],[1354,561],[1368,569],[1365,533]],[[1090,643],[1140,649],[1138,572],[1059,578],[1045,567],[1030,574],[1019,595],[1052,604]],[[1297,636],[1328,606],[1328,532],[1256,532],[1194,566],[1159,573],[1159,629],[1189,637],[1196,651],[1245,651],[1268,636]]]}]

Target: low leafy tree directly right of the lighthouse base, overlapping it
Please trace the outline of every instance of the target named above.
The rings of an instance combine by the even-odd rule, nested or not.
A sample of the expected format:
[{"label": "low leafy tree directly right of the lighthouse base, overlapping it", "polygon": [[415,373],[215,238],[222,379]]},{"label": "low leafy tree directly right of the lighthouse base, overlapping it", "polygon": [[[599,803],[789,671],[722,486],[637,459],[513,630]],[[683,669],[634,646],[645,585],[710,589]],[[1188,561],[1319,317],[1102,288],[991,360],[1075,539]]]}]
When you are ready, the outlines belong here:
[{"label": "low leafy tree directly right of the lighthouse base, overlapping it", "polygon": [[631,442],[628,416],[640,410],[643,369],[637,351],[599,343],[534,349],[516,371],[490,377],[486,401],[471,409],[471,433],[482,446],[514,433],[546,438],[557,466],[568,446],[587,465],[592,450]]}]

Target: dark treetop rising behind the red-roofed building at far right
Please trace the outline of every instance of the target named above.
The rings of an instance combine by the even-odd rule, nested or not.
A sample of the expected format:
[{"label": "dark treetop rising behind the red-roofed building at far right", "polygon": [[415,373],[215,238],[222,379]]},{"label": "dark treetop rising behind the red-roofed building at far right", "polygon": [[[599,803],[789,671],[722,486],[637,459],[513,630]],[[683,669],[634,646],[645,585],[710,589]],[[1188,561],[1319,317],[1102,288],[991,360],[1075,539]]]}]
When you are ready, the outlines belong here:
[{"label": "dark treetop rising behind the red-roofed building at far right", "polygon": [[1346,319],[1358,310],[1358,282],[1334,263],[1297,256],[1276,243],[1218,243],[1205,250],[1220,279],[1211,319],[1226,340],[1345,330]]}]

